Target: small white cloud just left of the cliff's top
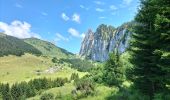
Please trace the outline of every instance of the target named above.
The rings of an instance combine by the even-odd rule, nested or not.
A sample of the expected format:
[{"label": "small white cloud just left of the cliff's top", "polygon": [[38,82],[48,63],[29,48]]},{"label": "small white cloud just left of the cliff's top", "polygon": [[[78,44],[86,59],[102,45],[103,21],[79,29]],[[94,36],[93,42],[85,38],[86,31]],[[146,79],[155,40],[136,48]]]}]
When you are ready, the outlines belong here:
[{"label": "small white cloud just left of the cliff's top", "polygon": [[68,29],[68,33],[70,33],[73,37],[77,37],[77,38],[84,38],[85,34],[82,33],[80,34],[76,29],[74,28],[69,28]]}]

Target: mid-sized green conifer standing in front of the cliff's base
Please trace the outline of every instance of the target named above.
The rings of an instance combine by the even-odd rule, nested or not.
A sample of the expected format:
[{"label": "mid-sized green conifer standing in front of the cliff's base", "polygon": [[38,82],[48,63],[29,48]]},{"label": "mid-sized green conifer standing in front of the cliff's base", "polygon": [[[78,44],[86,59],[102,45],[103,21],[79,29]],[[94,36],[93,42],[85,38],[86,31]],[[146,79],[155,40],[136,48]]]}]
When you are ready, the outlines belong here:
[{"label": "mid-sized green conifer standing in front of the cliff's base", "polygon": [[116,85],[119,87],[124,80],[125,71],[120,65],[119,56],[111,53],[104,65],[103,81],[109,86]]}]

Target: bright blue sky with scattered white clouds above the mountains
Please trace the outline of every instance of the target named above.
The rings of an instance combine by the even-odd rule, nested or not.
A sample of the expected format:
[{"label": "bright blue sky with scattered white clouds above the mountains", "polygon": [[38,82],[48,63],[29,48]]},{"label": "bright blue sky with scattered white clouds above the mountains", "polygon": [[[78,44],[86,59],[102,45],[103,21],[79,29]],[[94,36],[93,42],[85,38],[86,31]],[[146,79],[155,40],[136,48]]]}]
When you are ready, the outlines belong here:
[{"label": "bright blue sky with scattered white clouds above the mountains", "polygon": [[89,28],[131,21],[138,5],[138,0],[0,0],[0,31],[78,53]]}]

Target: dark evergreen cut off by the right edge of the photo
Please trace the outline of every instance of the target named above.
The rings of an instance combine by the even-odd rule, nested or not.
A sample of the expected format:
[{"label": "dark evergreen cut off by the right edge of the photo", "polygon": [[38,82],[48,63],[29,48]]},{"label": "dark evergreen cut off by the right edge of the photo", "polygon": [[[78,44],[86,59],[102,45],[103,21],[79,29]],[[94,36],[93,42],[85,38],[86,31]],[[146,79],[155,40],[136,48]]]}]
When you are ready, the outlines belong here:
[{"label": "dark evergreen cut off by the right edge of the photo", "polygon": [[170,85],[170,1],[157,0],[156,4],[159,5],[159,10],[154,27],[158,38],[156,41],[158,48],[154,53],[161,56],[157,61],[157,65],[162,71],[158,78],[166,88],[166,85]]}]

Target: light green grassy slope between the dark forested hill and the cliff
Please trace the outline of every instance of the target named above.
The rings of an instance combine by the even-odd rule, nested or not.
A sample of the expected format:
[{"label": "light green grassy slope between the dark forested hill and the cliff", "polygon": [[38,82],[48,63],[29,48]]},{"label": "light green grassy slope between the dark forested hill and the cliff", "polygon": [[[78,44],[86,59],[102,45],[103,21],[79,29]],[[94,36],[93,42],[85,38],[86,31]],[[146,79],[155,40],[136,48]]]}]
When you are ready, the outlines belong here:
[{"label": "light green grassy slope between the dark forested hill and the cliff", "polygon": [[50,42],[43,41],[40,39],[28,38],[28,39],[24,39],[24,41],[26,43],[34,46],[35,48],[37,48],[45,56],[66,58],[66,57],[73,55],[72,53],[70,53],[62,48],[59,48]]}]

